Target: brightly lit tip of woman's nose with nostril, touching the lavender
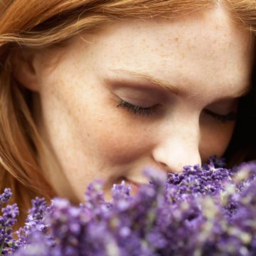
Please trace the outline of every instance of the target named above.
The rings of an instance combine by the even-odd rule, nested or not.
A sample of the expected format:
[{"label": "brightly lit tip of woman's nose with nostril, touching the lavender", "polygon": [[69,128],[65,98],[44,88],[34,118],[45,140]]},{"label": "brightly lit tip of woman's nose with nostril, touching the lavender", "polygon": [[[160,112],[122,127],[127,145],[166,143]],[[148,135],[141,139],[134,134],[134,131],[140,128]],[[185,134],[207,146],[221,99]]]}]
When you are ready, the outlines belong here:
[{"label": "brightly lit tip of woman's nose with nostril, touching the lavender", "polygon": [[198,130],[166,134],[154,148],[152,156],[161,170],[171,173],[180,173],[185,165],[201,165]]}]

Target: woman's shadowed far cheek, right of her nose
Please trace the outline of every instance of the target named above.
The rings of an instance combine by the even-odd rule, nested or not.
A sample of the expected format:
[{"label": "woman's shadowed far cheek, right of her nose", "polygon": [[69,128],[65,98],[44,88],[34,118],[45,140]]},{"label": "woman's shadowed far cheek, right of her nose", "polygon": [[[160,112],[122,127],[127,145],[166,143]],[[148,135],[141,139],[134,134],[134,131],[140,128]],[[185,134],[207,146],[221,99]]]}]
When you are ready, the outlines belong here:
[{"label": "woman's shadowed far cheek, right of her nose", "polygon": [[223,156],[233,135],[235,123],[217,124],[201,129],[200,152],[202,161],[215,154]]}]

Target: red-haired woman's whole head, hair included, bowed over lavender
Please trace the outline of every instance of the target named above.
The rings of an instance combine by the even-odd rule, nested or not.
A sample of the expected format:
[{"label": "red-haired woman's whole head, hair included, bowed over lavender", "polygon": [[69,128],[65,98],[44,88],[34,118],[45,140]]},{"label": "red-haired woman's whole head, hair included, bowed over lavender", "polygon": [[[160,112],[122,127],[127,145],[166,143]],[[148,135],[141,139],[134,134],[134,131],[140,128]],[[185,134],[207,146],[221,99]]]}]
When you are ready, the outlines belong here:
[{"label": "red-haired woman's whole head, hair included, bowed over lavender", "polygon": [[75,202],[95,178],[110,192],[145,183],[145,166],[234,159],[255,114],[252,93],[238,105],[253,90],[255,4],[25,2],[0,17],[4,184]]}]

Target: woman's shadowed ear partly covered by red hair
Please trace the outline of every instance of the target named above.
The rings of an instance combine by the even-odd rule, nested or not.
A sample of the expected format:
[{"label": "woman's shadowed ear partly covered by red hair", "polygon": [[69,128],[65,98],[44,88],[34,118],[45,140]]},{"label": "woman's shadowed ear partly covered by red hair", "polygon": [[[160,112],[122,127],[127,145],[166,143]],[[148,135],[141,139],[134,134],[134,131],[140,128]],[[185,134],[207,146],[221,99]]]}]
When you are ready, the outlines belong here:
[{"label": "woman's shadowed ear partly covered by red hair", "polygon": [[33,65],[33,50],[17,49],[11,54],[11,66],[16,80],[28,90],[38,91],[38,76]]}]

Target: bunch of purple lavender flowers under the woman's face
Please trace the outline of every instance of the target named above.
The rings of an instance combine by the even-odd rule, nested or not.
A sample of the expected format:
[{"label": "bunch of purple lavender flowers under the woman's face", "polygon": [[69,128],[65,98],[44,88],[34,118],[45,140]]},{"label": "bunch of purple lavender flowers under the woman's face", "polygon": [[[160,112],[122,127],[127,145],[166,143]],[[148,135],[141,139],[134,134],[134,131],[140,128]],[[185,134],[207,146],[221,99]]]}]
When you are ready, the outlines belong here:
[{"label": "bunch of purple lavender flowers under the woman's face", "polygon": [[6,188],[0,255],[256,255],[256,161],[225,169],[223,159],[211,157],[180,174],[145,175],[151,181],[135,196],[124,181],[114,185],[110,202],[100,181],[88,186],[80,206],[35,198],[16,233],[18,208],[3,208],[11,198]]}]

